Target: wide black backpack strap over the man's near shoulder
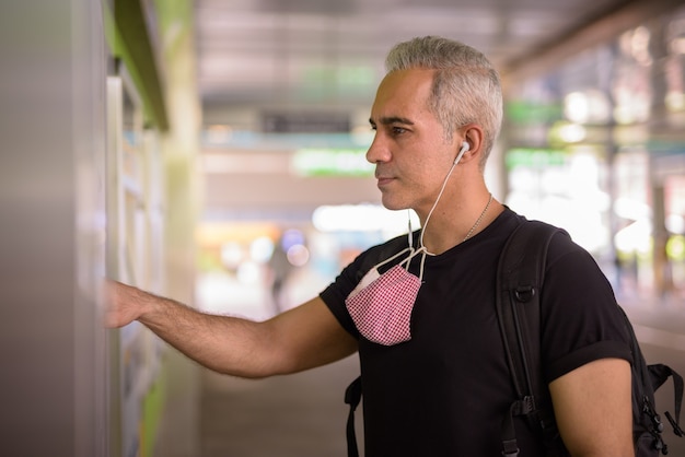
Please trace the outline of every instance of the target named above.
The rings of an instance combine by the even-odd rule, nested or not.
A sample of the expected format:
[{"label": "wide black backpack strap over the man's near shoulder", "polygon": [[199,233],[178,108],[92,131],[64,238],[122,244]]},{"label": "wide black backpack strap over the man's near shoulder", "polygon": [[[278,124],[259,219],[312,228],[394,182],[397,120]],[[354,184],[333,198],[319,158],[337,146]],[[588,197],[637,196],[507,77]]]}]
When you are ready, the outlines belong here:
[{"label": "wide black backpack strap over the man's near shoulder", "polygon": [[[547,248],[562,230],[539,221],[524,221],[510,235],[497,271],[497,315],[507,363],[518,399],[502,420],[502,456],[519,455],[513,418],[524,415],[542,427],[545,442],[560,443],[554,413],[541,406],[549,394],[543,383],[541,363],[541,288]],[[558,445],[558,444],[557,444]]]}]

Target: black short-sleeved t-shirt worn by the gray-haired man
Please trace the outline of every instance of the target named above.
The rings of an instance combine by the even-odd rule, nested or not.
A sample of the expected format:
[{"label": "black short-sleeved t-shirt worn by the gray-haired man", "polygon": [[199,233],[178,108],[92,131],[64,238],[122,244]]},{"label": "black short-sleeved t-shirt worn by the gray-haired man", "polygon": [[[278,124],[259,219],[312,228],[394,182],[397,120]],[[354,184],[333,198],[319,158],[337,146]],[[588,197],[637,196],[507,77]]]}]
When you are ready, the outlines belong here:
[{"label": "black short-sleeved t-shirt worn by the gray-haired man", "polygon": [[[501,421],[515,394],[495,309],[495,281],[499,254],[522,219],[507,209],[478,235],[426,258],[407,342],[385,347],[367,340],[345,305],[365,273],[360,267],[365,270],[407,247],[406,236],[362,253],[321,293],[359,339],[368,457],[501,455]],[[419,258],[410,265],[417,276]],[[618,313],[590,254],[556,235],[542,288],[546,380],[597,359],[630,361]],[[543,455],[523,420],[516,422],[516,437],[522,457]]]}]

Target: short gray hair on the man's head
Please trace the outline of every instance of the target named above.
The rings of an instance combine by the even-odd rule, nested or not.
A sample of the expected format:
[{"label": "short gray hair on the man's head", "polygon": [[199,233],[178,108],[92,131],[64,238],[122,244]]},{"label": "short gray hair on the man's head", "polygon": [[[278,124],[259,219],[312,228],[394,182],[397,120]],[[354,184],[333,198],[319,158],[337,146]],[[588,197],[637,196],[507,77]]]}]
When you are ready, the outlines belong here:
[{"label": "short gray hair on the man's head", "polygon": [[466,124],[483,127],[483,168],[502,124],[497,70],[479,50],[438,36],[414,38],[391,49],[385,60],[388,73],[411,68],[437,70],[428,108],[442,124],[446,140]]}]

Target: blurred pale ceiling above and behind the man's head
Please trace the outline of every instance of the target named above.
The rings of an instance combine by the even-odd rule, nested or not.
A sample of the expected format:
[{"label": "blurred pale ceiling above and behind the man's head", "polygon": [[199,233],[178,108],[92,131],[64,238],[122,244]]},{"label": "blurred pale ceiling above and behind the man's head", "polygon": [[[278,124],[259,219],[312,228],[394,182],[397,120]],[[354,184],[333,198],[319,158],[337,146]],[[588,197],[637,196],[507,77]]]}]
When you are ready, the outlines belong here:
[{"label": "blurred pale ceiling above and behind the man's head", "polygon": [[[442,35],[504,80],[541,71],[682,0],[197,0],[198,82],[212,108],[368,107],[385,54]],[[210,115],[211,117],[211,115]]]}]

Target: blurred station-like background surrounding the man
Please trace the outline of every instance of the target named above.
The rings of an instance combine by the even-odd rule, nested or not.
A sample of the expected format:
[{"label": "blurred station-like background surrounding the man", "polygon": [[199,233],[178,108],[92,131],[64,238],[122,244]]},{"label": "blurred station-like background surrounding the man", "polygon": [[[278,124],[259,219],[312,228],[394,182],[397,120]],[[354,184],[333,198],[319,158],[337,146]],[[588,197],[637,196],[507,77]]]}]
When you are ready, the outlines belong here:
[{"label": "blurred station-like background surrounding the man", "polygon": [[500,70],[495,197],[569,231],[685,373],[682,0],[2,2],[0,454],[345,455],[355,358],[219,376],[105,331],[100,281],[266,319],[405,233],[364,153],[385,54],[422,35]]}]

